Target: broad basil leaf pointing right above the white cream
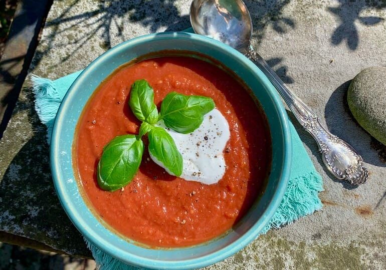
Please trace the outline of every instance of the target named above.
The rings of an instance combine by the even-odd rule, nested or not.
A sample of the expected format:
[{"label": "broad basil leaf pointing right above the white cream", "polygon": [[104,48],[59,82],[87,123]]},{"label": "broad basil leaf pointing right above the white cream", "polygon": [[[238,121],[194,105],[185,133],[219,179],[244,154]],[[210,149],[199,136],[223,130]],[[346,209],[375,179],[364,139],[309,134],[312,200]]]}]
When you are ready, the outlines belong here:
[{"label": "broad basil leaf pointing right above the white cream", "polygon": [[215,108],[213,99],[203,96],[186,96],[171,92],[161,104],[161,119],[165,126],[179,133],[195,131],[204,115]]}]

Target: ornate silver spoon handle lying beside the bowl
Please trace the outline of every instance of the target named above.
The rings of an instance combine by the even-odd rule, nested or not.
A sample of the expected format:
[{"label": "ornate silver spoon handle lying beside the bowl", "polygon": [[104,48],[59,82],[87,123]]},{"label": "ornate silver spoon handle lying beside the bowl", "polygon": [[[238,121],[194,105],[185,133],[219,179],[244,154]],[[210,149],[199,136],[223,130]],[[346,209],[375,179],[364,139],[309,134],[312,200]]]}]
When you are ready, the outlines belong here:
[{"label": "ornate silver spoon handle lying beside the bowl", "polygon": [[265,73],[299,123],[314,137],[327,169],[336,178],[346,180],[353,185],[365,183],[368,179],[368,171],[363,166],[362,157],[355,149],[327,131],[310,107],[284,84],[256,51],[249,48],[243,53]]}]

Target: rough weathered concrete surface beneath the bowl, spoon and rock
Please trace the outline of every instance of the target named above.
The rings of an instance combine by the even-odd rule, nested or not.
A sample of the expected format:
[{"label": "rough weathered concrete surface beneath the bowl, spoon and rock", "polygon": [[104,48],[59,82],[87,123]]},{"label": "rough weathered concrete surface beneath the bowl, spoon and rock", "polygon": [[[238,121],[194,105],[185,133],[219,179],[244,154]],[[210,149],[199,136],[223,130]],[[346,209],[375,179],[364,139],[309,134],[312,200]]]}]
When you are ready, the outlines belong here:
[{"label": "rough weathered concrete surface beneath the bowl, spoon and rock", "polygon": [[[124,40],[185,29],[189,4],[57,0],[30,71],[55,79],[85,68]],[[386,149],[354,121],[345,96],[359,71],[384,65],[386,2],[249,0],[246,4],[253,18],[255,48],[321,122],[362,155],[371,178],[357,188],[333,179],[311,136],[295,124],[324,180],[323,209],[271,230],[207,269],[386,268]],[[87,255],[55,195],[45,128],[33,109],[30,85],[27,80],[0,142],[0,229]]]}]

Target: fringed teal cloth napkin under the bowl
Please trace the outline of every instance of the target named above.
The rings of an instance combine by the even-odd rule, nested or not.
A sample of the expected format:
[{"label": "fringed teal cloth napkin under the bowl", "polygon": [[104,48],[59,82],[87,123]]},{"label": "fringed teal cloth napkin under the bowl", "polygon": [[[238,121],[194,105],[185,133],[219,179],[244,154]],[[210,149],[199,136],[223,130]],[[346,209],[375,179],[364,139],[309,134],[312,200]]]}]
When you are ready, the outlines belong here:
[{"label": "fringed teal cloth napkin under the bowl", "polygon": [[[43,124],[47,126],[47,139],[50,143],[51,131],[59,105],[74,80],[82,71],[75,72],[55,81],[32,76],[35,92],[35,109]],[[279,228],[297,220],[299,217],[313,213],[322,207],[318,192],[323,190],[323,182],[316,172],[303,143],[294,126],[290,123],[292,135],[292,168],[284,198],[269,224],[262,233],[270,228]],[[109,256],[90,244],[99,270],[138,269]]]}]

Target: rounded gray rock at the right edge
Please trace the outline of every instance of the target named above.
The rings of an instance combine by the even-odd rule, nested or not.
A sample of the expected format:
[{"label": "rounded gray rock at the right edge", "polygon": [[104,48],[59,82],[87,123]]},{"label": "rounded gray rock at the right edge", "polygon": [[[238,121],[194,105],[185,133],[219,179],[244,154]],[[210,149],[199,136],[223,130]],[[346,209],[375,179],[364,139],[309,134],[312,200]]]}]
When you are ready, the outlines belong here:
[{"label": "rounded gray rock at the right edge", "polygon": [[386,145],[386,67],[359,72],[348,88],[347,101],[356,121]]}]

